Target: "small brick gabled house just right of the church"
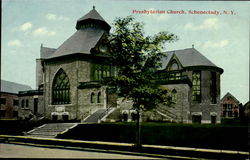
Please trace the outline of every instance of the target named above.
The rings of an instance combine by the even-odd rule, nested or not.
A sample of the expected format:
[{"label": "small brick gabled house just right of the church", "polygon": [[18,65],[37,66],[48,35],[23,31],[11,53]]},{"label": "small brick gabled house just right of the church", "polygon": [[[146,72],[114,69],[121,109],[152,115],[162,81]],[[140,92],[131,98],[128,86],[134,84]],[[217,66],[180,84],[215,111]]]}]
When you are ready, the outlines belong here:
[{"label": "small brick gabled house just right of the church", "polygon": [[231,94],[227,93],[220,101],[221,116],[224,118],[238,118],[240,102]]}]

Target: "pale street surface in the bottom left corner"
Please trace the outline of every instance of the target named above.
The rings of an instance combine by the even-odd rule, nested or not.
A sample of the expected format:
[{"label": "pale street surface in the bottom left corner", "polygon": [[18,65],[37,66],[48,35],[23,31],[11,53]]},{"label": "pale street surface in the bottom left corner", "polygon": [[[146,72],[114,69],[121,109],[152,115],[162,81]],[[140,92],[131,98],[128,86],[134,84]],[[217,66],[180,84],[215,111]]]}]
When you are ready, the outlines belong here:
[{"label": "pale street surface in the bottom left corner", "polygon": [[0,143],[0,158],[156,159],[153,157]]}]

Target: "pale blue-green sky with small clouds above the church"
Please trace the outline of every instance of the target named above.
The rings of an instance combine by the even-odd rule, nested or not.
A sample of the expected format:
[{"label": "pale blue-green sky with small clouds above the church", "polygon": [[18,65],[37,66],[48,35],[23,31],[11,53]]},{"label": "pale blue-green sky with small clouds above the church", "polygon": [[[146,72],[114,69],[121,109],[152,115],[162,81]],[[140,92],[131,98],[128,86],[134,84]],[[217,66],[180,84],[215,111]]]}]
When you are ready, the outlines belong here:
[{"label": "pale blue-green sky with small clouds above the church", "polygon": [[[145,24],[147,35],[174,33],[179,40],[166,44],[165,51],[194,45],[224,69],[221,97],[230,92],[243,104],[249,101],[247,1],[2,0],[1,79],[36,89],[41,44],[58,48],[76,32],[76,21],[93,5],[110,25],[116,17],[132,15]],[[139,12],[144,10],[154,12]],[[214,12],[219,14],[209,14]]]}]

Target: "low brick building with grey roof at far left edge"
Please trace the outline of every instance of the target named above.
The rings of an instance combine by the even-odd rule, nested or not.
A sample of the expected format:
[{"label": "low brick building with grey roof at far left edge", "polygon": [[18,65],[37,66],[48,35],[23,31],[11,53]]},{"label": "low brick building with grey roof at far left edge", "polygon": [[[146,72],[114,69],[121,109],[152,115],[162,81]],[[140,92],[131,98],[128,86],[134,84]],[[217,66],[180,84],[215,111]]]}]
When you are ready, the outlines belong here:
[{"label": "low brick building with grey roof at far left edge", "polygon": [[30,89],[27,85],[1,80],[0,119],[17,119],[18,92]]}]

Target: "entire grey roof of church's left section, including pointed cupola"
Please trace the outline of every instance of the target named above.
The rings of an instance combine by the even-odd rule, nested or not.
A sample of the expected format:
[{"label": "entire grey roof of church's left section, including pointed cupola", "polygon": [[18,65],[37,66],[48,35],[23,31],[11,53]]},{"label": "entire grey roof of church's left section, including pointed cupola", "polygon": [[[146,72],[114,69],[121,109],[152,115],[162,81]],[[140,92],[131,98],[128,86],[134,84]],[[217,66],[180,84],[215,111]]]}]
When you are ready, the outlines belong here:
[{"label": "entire grey roof of church's left section, including pointed cupola", "polygon": [[[84,24],[99,24],[100,27],[84,27]],[[91,54],[90,50],[96,46],[103,34],[110,29],[110,26],[102,16],[93,9],[77,21],[77,31],[58,49],[41,48],[41,58],[56,58],[72,54]],[[81,29],[80,29],[81,28]]]}]

